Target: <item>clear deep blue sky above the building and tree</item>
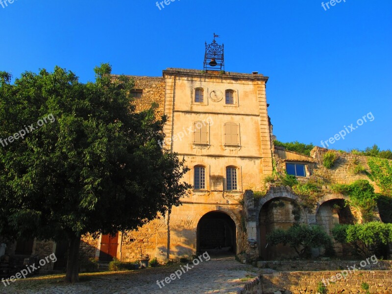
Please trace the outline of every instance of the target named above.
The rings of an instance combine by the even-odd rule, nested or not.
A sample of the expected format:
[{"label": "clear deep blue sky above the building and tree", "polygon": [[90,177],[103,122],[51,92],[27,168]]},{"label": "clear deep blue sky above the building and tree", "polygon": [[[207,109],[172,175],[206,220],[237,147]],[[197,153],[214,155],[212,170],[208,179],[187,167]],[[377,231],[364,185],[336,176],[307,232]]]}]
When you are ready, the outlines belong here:
[{"label": "clear deep blue sky above the building and tree", "polygon": [[[2,0],[4,1],[4,0]],[[204,42],[221,35],[228,72],[258,71],[280,141],[320,145],[369,112],[334,149],[392,148],[392,1],[15,0],[0,5],[0,70],[14,77],[55,65],[80,81],[113,73],[161,76],[202,69]],[[369,115],[369,117],[371,117]],[[349,128],[348,128],[349,129]]]}]

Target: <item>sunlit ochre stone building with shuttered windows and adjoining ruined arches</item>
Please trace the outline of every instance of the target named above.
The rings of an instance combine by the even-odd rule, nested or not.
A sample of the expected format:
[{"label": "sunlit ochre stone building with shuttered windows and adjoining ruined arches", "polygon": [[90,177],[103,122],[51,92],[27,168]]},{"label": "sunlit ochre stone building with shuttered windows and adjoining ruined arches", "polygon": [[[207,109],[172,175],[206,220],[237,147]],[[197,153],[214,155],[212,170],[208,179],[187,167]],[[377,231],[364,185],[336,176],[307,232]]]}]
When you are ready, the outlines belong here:
[{"label": "sunlit ochre stone building with shuttered windows and adjoining ruined arches", "polygon": [[[209,58],[205,64],[220,64],[222,69],[223,60],[217,61]],[[136,110],[156,102],[157,115],[168,117],[166,138],[159,144],[185,158],[191,170],[183,180],[194,188],[181,199],[182,206],[137,231],[96,239],[83,236],[84,257],[107,262],[114,257],[136,261],[149,255],[168,261],[207,250],[247,261],[270,260],[294,256],[287,247],[268,245],[266,235],[275,228],[288,228],[294,222],[320,224],[330,234],[337,223],[361,222],[360,212],[344,205],[347,197],[331,192],[327,184],[310,205],[310,196],[300,197],[290,187],[268,183],[273,172],[287,171],[300,182],[349,184],[368,179],[363,173],[350,172],[354,162],[368,166],[365,156],[334,151],[338,159],[332,169],[326,169],[322,166],[326,149],[315,147],[311,156],[305,156],[274,147],[267,76],[205,66],[203,71],[169,68],[162,77],[131,77]],[[377,212],[375,217],[380,218]],[[342,245],[335,244],[335,249],[348,254]],[[54,252],[58,262],[46,269],[53,270],[65,266],[66,250],[66,244],[29,240],[8,244],[7,253],[23,260]]]}]

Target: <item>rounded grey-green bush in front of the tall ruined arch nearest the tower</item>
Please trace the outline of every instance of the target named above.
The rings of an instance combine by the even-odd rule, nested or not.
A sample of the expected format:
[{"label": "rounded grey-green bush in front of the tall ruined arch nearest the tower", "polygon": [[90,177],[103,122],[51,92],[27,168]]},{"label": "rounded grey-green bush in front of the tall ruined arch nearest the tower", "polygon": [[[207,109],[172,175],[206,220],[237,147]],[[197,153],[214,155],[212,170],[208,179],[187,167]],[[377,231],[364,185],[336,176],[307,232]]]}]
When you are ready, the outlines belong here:
[{"label": "rounded grey-green bush in front of the tall ruined arch nearest the tower", "polygon": [[275,229],[267,236],[270,245],[289,245],[300,258],[308,257],[312,248],[323,247],[332,252],[332,240],[319,226],[293,225],[287,231]]}]

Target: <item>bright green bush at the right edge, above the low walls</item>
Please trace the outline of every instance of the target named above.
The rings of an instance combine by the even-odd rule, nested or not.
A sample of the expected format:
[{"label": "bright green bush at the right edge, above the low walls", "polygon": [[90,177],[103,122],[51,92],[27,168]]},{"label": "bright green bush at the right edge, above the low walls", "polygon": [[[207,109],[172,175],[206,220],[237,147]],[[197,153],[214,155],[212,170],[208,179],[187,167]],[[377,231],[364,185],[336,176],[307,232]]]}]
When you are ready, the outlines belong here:
[{"label": "bright green bush at the right edge, above the low walls", "polygon": [[385,256],[385,247],[392,242],[392,224],[372,221],[363,224],[338,224],[332,229],[334,239],[339,243],[348,243],[356,253],[366,257]]}]

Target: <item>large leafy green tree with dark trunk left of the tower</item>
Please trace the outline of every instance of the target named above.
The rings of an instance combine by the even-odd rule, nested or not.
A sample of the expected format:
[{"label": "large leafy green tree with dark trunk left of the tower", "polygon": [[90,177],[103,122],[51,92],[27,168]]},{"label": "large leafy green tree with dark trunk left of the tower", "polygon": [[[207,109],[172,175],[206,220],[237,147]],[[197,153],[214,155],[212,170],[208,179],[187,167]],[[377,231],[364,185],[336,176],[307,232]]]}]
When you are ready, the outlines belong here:
[{"label": "large leafy green tree with dark trunk left of the tower", "polygon": [[165,117],[136,113],[130,78],[95,69],[82,84],[74,73],[26,72],[10,84],[0,73],[0,138],[52,117],[0,146],[0,235],[68,240],[67,282],[78,281],[80,239],[115,234],[165,215],[191,187],[184,160],[162,150]]}]

